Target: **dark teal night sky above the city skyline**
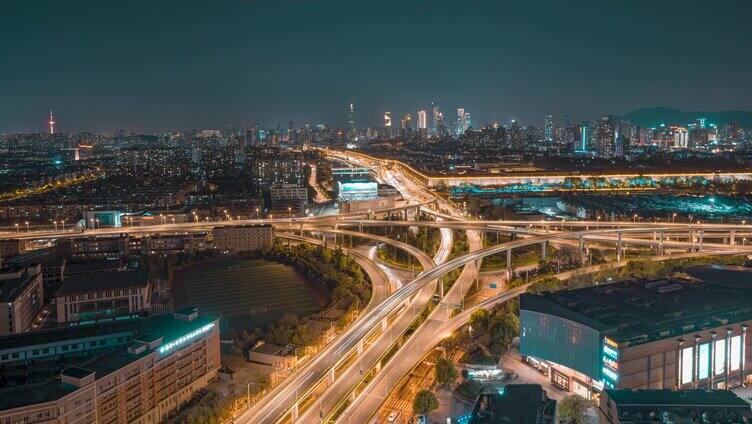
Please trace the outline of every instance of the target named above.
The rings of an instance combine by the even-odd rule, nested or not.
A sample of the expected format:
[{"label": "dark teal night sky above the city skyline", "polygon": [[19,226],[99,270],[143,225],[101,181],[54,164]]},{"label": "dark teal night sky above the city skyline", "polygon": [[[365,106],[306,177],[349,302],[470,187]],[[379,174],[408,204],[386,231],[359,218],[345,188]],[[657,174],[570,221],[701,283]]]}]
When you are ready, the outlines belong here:
[{"label": "dark teal night sky above the city skyline", "polygon": [[[214,4],[218,3],[218,4]],[[752,109],[752,1],[0,0],[0,132]]]}]

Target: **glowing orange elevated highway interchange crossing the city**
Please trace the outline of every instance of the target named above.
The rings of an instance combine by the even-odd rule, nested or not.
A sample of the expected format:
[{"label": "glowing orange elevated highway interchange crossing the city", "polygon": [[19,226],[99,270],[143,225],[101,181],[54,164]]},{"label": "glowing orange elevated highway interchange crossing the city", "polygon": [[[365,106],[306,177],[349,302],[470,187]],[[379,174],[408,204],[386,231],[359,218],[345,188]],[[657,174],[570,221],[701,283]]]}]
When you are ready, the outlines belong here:
[{"label": "glowing orange elevated highway interchange crossing the city", "polygon": [[[451,201],[436,197],[408,172],[388,161],[364,158],[348,152],[327,151],[354,166],[368,167],[377,179],[396,187],[405,206],[366,213],[325,217],[249,219],[191,222],[149,227],[102,228],[75,231],[36,229],[0,232],[0,238],[51,239],[108,234],[159,234],[211,231],[238,224],[272,224],[280,237],[295,242],[344,245],[358,239],[401,249],[415,259],[422,272],[404,284],[390,284],[389,273],[368,255],[348,249],[366,269],[374,284],[373,297],[357,320],[309,358],[295,372],[238,416],[237,423],[346,422],[366,423],[400,380],[438,342],[467,322],[473,311],[489,308],[514,298],[527,285],[502,292],[476,303],[451,317],[462,304],[473,281],[478,278],[483,258],[506,254],[507,277],[511,275],[514,249],[540,244],[545,255],[548,243],[576,246],[584,255],[588,246],[613,246],[616,261],[557,274],[560,279],[624,266],[627,246],[641,246],[656,252],[651,260],[666,260],[707,254],[748,254],[744,244],[752,237],[747,225],[707,223],[644,223],[614,221],[477,221],[469,220]],[[434,220],[412,220],[419,214]],[[399,219],[393,220],[398,217]],[[388,220],[379,220],[388,217]],[[438,228],[441,243],[431,258],[422,250],[385,236],[363,232],[369,227],[410,226]],[[468,252],[449,258],[453,231],[465,232]],[[484,247],[487,234],[511,235],[511,241]],[[581,256],[584,258],[584,256]],[[585,261],[582,261],[585,263]],[[454,284],[444,293],[442,277],[462,267]],[[393,287],[392,287],[393,286]],[[438,304],[430,308],[431,299]],[[406,337],[408,329],[413,331]]]}]

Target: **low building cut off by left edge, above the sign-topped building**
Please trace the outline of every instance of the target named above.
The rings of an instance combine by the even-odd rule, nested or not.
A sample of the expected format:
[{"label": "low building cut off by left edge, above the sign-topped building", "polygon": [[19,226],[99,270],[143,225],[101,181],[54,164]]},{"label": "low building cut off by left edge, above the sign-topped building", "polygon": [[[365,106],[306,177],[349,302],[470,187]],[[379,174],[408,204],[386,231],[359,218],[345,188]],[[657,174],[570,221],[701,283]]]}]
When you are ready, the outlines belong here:
[{"label": "low building cut off by left edge, above the sign-topped building", "polygon": [[0,334],[29,331],[43,306],[41,265],[0,268]]}]

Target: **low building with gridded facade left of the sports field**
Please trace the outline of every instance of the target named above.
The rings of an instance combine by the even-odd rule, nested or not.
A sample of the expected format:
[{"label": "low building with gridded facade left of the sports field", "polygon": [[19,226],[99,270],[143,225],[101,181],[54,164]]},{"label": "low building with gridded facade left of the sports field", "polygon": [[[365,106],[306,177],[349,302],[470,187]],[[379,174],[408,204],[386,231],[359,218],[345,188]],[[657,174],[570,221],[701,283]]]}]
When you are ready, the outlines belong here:
[{"label": "low building with gridded facade left of the sports field", "polygon": [[137,269],[68,278],[55,298],[58,323],[138,314],[149,310],[149,274]]}]

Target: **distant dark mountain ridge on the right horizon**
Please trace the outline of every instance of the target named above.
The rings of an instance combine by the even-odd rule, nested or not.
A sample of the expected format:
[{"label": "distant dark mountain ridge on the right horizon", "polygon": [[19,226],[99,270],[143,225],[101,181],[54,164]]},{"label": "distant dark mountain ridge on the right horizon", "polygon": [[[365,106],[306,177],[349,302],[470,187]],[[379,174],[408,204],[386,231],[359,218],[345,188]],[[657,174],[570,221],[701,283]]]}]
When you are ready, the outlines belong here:
[{"label": "distant dark mountain ridge on the right horizon", "polygon": [[661,124],[687,125],[696,122],[698,118],[706,118],[706,124],[716,124],[719,127],[733,121],[738,121],[745,127],[752,126],[752,112],[743,110],[684,112],[668,107],[651,107],[637,109],[622,116],[622,119],[643,127],[658,127]]}]

